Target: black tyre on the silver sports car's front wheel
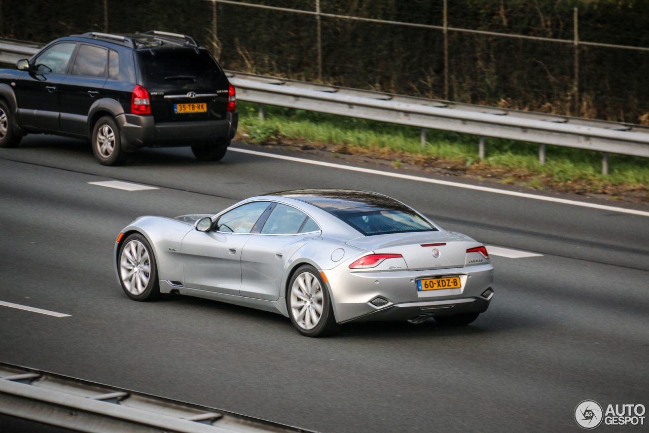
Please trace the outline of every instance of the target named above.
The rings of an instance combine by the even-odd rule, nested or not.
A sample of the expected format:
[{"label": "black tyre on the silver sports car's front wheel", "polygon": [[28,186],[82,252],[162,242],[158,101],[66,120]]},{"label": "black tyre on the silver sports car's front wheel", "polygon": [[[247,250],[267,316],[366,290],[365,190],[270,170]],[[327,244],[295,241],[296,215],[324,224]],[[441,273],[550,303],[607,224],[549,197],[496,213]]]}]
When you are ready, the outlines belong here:
[{"label": "black tyre on the silver sports car's front wheel", "polygon": [[[138,245],[139,243],[139,245]],[[146,258],[138,257],[133,254],[133,247],[141,246],[146,251]],[[129,257],[130,254],[130,257]],[[137,259],[137,260],[132,260]],[[146,260],[148,259],[148,260]],[[142,261],[142,263],[139,262]],[[125,269],[125,264],[137,267],[138,271],[141,269],[141,274],[146,278],[146,284],[138,286],[138,279],[140,275],[136,273],[129,274],[128,269]],[[141,265],[141,267],[137,266]],[[147,273],[146,270],[149,270]],[[119,254],[117,254],[117,275],[119,275],[119,283],[124,292],[134,299],[134,301],[153,301],[160,297],[160,281],[158,280],[158,267],[156,258],[153,254],[153,248],[144,236],[139,233],[131,234],[119,245]],[[129,275],[136,275],[135,278],[129,278]],[[125,282],[126,279],[126,282]]]}]

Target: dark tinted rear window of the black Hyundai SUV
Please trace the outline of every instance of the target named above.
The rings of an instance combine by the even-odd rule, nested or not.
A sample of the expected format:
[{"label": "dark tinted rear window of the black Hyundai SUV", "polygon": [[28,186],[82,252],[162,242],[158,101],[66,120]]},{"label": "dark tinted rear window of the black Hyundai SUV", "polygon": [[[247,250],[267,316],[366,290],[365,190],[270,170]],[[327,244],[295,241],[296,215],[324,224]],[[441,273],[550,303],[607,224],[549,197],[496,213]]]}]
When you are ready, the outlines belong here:
[{"label": "dark tinted rear window of the black Hyundai SUV", "polygon": [[138,51],[147,79],[156,84],[214,81],[221,68],[204,49],[173,47]]}]

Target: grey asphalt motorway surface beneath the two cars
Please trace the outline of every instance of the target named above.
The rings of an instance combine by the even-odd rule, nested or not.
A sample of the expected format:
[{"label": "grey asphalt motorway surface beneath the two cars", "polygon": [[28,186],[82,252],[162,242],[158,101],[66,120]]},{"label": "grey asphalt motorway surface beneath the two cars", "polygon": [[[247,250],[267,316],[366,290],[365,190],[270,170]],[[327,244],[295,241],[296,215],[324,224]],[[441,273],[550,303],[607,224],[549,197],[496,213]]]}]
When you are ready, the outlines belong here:
[{"label": "grey asphalt motorway surface beneath the two cars", "polygon": [[[159,189],[88,184],[113,179]],[[112,247],[134,217],[315,187],[386,193],[543,256],[495,256],[496,297],[469,327],[366,323],[324,339],[214,301],[136,303],[114,278]],[[188,149],[148,150],[103,167],[82,142],[28,136],[0,149],[0,234],[0,301],[71,315],[0,306],[3,362],[326,433],[577,432],[585,399],[649,407],[647,216],[234,151],[199,163]]]}]

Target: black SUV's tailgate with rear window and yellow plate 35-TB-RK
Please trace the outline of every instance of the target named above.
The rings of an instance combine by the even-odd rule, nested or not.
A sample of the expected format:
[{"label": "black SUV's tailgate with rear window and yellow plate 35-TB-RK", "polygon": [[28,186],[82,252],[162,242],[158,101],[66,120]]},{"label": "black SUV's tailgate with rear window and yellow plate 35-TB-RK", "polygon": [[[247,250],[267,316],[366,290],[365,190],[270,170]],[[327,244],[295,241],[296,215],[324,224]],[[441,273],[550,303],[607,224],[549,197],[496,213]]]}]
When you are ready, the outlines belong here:
[{"label": "black SUV's tailgate with rear window and yellow plate 35-TB-RK", "polygon": [[226,118],[230,83],[206,49],[140,49],[138,57],[156,123]]}]

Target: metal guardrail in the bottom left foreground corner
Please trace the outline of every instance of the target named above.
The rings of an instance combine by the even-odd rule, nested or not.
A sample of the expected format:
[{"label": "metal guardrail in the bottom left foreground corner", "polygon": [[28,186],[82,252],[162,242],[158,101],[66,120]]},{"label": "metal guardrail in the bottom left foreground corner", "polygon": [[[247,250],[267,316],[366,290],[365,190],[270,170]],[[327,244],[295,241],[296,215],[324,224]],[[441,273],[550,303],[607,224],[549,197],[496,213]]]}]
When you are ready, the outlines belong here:
[{"label": "metal guardrail in the bottom left foreground corner", "polygon": [[312,432],[5,363],[0,414],[92,433]]}]

